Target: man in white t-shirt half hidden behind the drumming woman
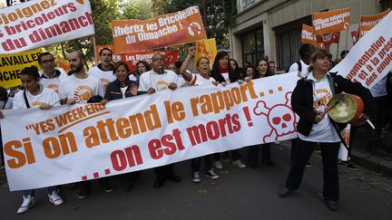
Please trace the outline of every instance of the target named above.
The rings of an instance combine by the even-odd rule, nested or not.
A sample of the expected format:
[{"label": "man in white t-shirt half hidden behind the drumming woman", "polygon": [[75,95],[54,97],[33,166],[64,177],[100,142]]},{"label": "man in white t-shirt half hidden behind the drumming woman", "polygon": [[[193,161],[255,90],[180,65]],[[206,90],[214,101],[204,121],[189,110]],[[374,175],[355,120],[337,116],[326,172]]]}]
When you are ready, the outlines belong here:
[{"label": "man in white t-shirt half hidden behind the drumming woman", "polygon": [[308,69],[310,65],[310,55],[315,51],[312,44],[305,43],[299,48],[299,56],[301,60],[294,62],[289,67],[289,72],[299,72],[299,77],[305,78],[309,75]]}]

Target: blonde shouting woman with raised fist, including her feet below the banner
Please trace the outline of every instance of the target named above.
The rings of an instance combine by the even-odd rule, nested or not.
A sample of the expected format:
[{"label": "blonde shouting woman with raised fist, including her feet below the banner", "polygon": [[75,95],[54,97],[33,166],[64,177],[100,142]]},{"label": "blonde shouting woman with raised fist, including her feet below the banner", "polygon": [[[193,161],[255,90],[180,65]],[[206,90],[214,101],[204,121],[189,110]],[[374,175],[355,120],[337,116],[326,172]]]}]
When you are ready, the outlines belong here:
[{"label": "blonde shouting woman with raised fist, including her feet below the banner", "polygon": [[[199,74],[187,72],[187,67],[191,62],[191,59],[195,55],[195,48],[192,46],[188,48],[188,56],[185,61],[182,63],[180,68],[180,73],[185,81],[189,81],[191,85],[218,85],[218,81],[215,81],[212,77],[210,77],[210,60],[207,57],[201,57],[196,62],[196,70]],[[211,179],[218,179],[219,176],[214,172],[211,156],[206,155],[201,157],[204,159],[204,167],[205,167],[205,175],[210,177]],[[201,169],[201,158],[192,158],[191,159],[191,171],[192,171],[192,182],[200,183],[200,169]]]}]

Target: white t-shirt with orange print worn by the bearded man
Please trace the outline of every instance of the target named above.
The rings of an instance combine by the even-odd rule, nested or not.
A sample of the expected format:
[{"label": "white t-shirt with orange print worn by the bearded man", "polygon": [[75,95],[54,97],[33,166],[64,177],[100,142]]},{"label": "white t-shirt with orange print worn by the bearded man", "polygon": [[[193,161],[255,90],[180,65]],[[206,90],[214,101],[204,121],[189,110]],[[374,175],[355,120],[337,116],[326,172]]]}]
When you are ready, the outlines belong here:
[{"label": "white t-shirt with orange print worn by the bearded man", "polygon": [[85,79],[78,79],[74,75],[60,83],[59,96],[74,99],[77,102],[86,102],[94,95],[104,96],[103,82],[98,78],[88,75]]}]

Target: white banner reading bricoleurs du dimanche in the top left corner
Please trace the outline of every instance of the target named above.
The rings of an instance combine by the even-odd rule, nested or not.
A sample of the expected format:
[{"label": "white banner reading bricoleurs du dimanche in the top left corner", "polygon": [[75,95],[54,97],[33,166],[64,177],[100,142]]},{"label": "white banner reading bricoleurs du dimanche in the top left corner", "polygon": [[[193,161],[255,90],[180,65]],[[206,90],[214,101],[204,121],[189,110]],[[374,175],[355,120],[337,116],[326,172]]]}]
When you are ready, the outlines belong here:
[{"label": "white banner reading bricoleurs du dimanche in the top left corner", "polygon": [[0,54],[93,34],[89,0],[33,0],[0,9]]}]

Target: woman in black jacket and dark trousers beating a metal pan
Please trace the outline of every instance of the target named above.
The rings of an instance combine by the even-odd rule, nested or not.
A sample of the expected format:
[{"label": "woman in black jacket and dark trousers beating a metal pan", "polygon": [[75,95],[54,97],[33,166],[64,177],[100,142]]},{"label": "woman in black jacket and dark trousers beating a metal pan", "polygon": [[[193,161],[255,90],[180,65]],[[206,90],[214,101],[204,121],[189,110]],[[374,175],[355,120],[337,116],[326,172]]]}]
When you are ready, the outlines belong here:
[{"label": "woman in black jacket and dark trousers beating a metal pan", "polygon": [[291,107],[299,115],[299,139],[286,186],[280,188],[279,196],[289,196],[291,191],[299,188],[306,162],[319,143],[323,162],[323,196],[328,209],[336,211],[339,198],[338,149],[341,141],[338,133],[345,125],[329,119],[328,102],[340,92],[358,95],[365,103],[364,113],[359,117],[361,121],[368,120],[368,115],[374,115],[375,110],[368,89],[340,75],[331,76],[328,73],[329,65],[328,52],[320,50],[312,53],[309,76],[299,80],[292,93]]}]

